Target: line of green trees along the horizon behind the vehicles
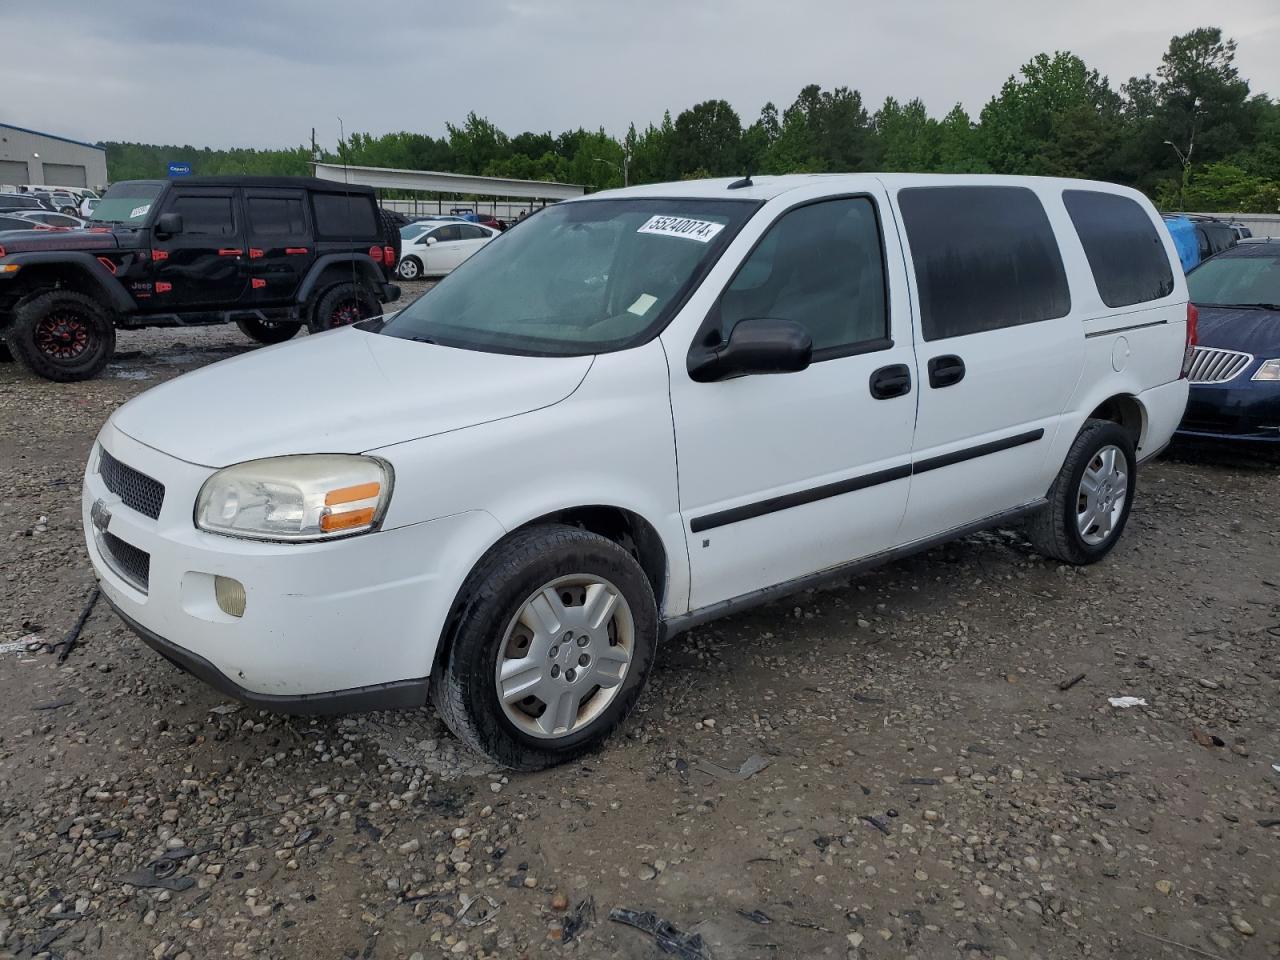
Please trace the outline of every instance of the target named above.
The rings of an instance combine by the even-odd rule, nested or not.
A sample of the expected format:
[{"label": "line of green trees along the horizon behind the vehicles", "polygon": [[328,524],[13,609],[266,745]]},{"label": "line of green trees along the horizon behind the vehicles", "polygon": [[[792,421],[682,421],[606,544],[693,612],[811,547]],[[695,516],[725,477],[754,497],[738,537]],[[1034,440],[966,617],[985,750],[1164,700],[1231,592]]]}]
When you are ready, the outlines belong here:
[{"label": "line of green trees along the horizon behind the vehicles", "polygon": [[[589,189],[744,173],[933,172],[1084,177],[1126,183],[1161,209],[1280,210],[1280,101],[1254,93],[1236,44],[1203,27],[1175,36],[1155,73],[1119,90],[1070,52],[1039,54],[970,116],[931,116],[915,99],[872,109],[858,90],[806,86],[744,123],[724,100],[695,104],[621,140],[603,129],[508,136],[475,113],[443,137],[352,133],[329,163],[558,180]],[[113,180],[197,174],[308,174],[312,150],[214,150],[108,142]]]}]

